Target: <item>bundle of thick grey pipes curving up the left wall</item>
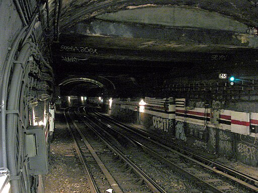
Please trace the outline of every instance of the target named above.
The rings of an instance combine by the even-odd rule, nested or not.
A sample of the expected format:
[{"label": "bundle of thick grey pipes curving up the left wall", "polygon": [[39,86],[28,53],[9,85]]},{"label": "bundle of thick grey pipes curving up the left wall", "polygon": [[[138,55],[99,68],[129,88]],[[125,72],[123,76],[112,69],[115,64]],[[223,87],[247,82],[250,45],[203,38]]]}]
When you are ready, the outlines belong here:
[{"label": "bundle of thick grey pipes curving up the left wall", "polygon": [[[11,81],[8,85],[7,109],[5,111],[7,166],[11,172],[12,192],[17,193],[31,192],[30,177],[27,173],[28,157],[24,149],[24,130],[29,125],[29,100],[26,98],[26,93],[30,93],[30,89],[32,89],[31,82],[29,82],[31,65],[29,61],[31,61],[30,57],[32,56],[39,60],[40,64],[47,64],[35,44],[31,42],[24,44],[18,58],[13,61],[13,71],[12,75],[10,75]],[[50,67],[49,64],[46,67]],[[50,72],[52,74],[51,67]],[[44,77],[40,77],[40,80],[42,79],[44,80]],[[32,100],[42,101],[41,98],[42,92],[39,89],[37,99]],[[51,96],[49,95],[48,99],[50,98]]]}]

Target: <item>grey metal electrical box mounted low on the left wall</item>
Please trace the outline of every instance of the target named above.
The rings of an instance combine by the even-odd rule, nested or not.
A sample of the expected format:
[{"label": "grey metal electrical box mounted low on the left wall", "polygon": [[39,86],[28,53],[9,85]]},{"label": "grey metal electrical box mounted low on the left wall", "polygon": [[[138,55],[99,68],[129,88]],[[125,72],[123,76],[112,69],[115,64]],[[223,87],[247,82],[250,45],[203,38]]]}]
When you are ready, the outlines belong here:
[{"label": "grey metal electrical box mounted low on the left wall", "polygon": [[48,155],[44,126],[30,126],[25,130],[25,150],[29,157],[29,174],[46,174]]}]

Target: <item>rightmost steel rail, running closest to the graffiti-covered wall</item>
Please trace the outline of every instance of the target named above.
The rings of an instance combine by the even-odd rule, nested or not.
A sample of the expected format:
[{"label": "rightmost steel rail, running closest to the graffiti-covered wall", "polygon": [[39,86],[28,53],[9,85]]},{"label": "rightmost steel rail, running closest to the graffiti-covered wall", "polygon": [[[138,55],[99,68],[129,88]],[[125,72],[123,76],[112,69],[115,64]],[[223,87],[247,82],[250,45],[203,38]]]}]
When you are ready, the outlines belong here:
[{"label": "rightmost steel rail, running closest to the graffiti-covered wall", "polygon": [[[100,113],[95,112],[95,114],[101,116],[102,118],[105,118],[106,120],[109,119],[109,118],[106,118],[105,116],[103,116],[103,115],[100,114]],[[115,119],[112,118],[112,121],[114,121],[114,120],[115,120]],[[168,149],[168,150],[170,150],[170,151],[172,151],[172,152],[174,152],[174,153],[179,154],[181,157],[184,157],[184,158],[186,158],[186,159],[189,159],[189,160],[191,160],[191,161],[194,161],[194,162],[196,162],[197,164],[202,165],[203,167],[206,167],[207,169],[209,169],[209,170],[211,170],[211,171],[213,171],[213,172],[215,172],[215,173],[217,173],[217,174],[220,174],[220,175],[222,175],[222,176],[224,176],[224,177],[227,177],[227,178],[229,178],[229,179],[231,179],[231,180],[236,181],[237,183],[240,183],[241,185],[247,187],[247,188],[250,189],[250,190],[253,190],[253,191],[255,191],[255,192],[258,192],[258,188],[257,188],[257,187],[255,187],[255,186],[253,186],[253,185],[251,185],[251,184],[249,184],[249,183],[247,183],[247,182],[245,182],[245,181],[243,181],[243,180],[241,180],[241,179],[238,179],[237,177],[232,176],[232,173],[233,173],[235,176],[239,176],[239,175],[240,175],[241,177],[243,177],[244,174],[242,174],[242,173],[240,173],[240,172],[234,171],[233,169],[228,168],[228,167],[226,167],[226,166],[224,166],[224,165],[222,165],[222,164],[216,163],[216,162],[214,162],[214,161],[212,161],[212,160],[209,160],[209,159],[207,159],[207,158],[205,158],[205,157],[203,157],[203,156],[197,155],[197,154],[195,154],[195,153],[189,152],[188,150],[184,150],[184,149],[182,149],[182,148],[180,148],[180,147],[177,147],[177,148],[180,148],[180,151],[185,151],[185,152],[187,152],[187,153],[190,154],[190,155],[193,155],[193,154],[194,154],[194,156],[195,156],[195,157],[198,157],[199,160],[205,161],[206,163],[209,163],[209,164],[213,163],[214,165],[216,165],[216,167],[222,168],[224,171],[227,170],[227,173],[222,172],[221,170],[215,169],[215,168],[213,168],[213,167],[211,167],[211,166],[208,166],[208,165],[205,164],[205,163],[202,163],[202,162],[200,162],[200,161],[198,161],[198,160],[196,160],[196,159],[192,159],[192,158],[190,158],[189,156],[186,156],[186,155],[184,155],[184,154],[182,154],[182,153],[180,153],[180,152],[178,152],[178,151],[175,151],[174,149],[171,149],[170,147],[167,146],[167,142],[166,142],[166,141],[164,141],[164,140],[162,140],[162,139],[160,139],[160,138],[158,138],[158,137],[156,137],[156,136],[151,135],[152,138],[154,138],[155,140],[150,139],[149,137],[146,137],[146,136],[144,136],[144,135],[139,134],[139,131],[140,131],[140,130],[137,130],[137,132],[136,132],[136,131],[135,131],[135,130],[136,130],[135,128],[133,128],[133,127],[128,127],[127,125],[125,125],[125,124],[123,124],[123,123],[120,123],[120,122],[119,122],[119,123],[116,123],[116,122],[117,122],[117,121],[115,120],[115,122],[113,122],[113,123],[114,123],[115,125],[119,126],[119,127],[124,128],[124,129],[129,129],[130,131],[132,131],[132,129],[133,129],[132,132],[134,132],[134,133],[136,133],[137,135],[140,135],[140,136],[142,136],[142,137],[144,137],[144,138],[146,138],[146,139],[152,141],[153,143],[160,144],[160,142],[157,142],[157,140],[162,141],[163,143],[165,142],[166,145],[164,145],[164,144],[160,144],[160,145],[162,145],[162,147],[164,147],[164,148],[166,148],[166,149]],[[144,131],[141,131],[141,132],[144,133],[144,134],[148,134],[147,132],[144,132]],[[148,134],[148,135],[150,135],[150,134]],[[169,144],[169,146],[171,146],[171,144]],[[149,151],[149,150],[148,150],[148,151]],[[229,172],[231,175],[228,174],[228,172]],[[257,180],[255,180],[255,179],[252,179],[250,176],[245,176],[245,177],[243,177],[243,178],[244,178],[244,179],[250,179],[250,180],[257,181]]]}]

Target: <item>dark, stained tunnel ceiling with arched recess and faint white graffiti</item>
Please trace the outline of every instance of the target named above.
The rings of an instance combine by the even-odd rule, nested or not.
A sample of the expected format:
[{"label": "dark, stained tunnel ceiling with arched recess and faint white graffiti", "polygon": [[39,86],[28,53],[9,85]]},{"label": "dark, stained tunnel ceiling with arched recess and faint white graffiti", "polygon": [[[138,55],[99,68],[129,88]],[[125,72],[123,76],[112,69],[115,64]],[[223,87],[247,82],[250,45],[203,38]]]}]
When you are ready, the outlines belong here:
[{"label": "dark, stained tunnel ceiling with arched recess and faint white graffiti", "polygon": [[[90,76],[126,92],[139,84],[162,84],[166,78],[210,74],[214,69],[230,73],[232,65],[237,69],[258,63],[258,1],[48,4],[58,84]],[[69,85],[77,90],[96,86],[74,84]]]}]

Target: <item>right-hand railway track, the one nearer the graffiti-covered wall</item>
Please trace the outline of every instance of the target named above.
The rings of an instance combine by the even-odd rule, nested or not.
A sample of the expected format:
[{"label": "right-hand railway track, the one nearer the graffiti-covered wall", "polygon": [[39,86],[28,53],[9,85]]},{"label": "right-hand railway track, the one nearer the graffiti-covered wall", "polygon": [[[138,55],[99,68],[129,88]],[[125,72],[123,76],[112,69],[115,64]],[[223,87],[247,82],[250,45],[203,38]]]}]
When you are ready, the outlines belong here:
[{"label": "right-hand railway track, the one nearer the graffiti-covered wall", "polygon": [[[102,125],[105,124],[106,131],[119,133],[119,135],[123,136],[123,139],[141,146],[142,149],[156,157],[159,161],[169,165],[173,170],[204,187],[203,190],[205,192],[258,192],[256,186],[242,180],[244,178],[251,181],[250,176],[244,176],[230,168],[224,168],[223,165],[218,165],[205,158],[202,162],[200,157],[198,158],[199,160],[193,159],[192,157],[195,156],[189,152],[185,155],[183,150],[180,150],[183,153],[175,151],[161,144],[157,139],[150,139],[153,136],[150,137],[143,134],[139,136],[139,131],[135,132],[132,131],[132,128],[125,127],[120,123],[110,122],[110,120],[104,119],[103,116],[100,117],[99,114],[95,114],[94,117],[95,121],[98,121],[96,124],[100,124],[100,122]],[[216,166],[214,166],[215,164]],[[224,172],[216,167],[223,168]],[[254,181],[251,181],[251,183],[255,183],[255,179],[252,180]]]}]

